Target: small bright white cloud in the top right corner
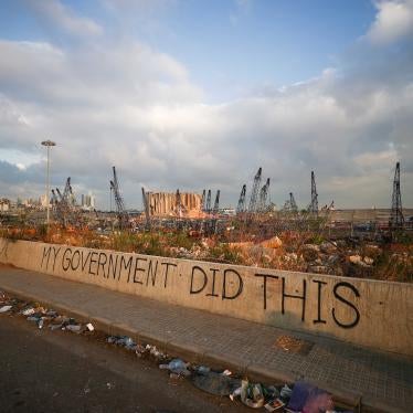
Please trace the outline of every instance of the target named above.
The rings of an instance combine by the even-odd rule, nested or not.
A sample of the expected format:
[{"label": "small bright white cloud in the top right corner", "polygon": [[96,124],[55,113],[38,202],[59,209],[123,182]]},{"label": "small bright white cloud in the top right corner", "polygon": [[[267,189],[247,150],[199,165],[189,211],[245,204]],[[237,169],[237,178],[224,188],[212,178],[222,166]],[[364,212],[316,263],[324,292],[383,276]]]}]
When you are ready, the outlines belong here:
[{"label": "small bright white cloud in the top right corner", "polygon": [[378,14],[368,32],[374,44],[389,44],[413,35],[413,0],[377,1]]}]

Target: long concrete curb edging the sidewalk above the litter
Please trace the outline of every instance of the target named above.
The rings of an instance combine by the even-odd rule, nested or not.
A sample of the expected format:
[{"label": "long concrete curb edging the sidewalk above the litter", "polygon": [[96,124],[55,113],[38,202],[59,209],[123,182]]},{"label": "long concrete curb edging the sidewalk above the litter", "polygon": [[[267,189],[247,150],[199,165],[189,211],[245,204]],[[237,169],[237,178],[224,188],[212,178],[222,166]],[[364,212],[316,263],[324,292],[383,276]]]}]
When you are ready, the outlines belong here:
[{"label": "long concrete curb edging the sidewalk above the litter", "polygon": [[[208,364],[213,369],[227,368],[233,372],[236,372],[241,377],[248,377],[253,381],[257,382],[271,382],[272,384],[292,384],[297,379],[292,372],[275,372],[274,370],[267,369],[263,366],[254,363],[244,363],[236,357],[229,359],[223,358],[221,354],[212,351],[206,351],[205,349],[192,346],[189,343],[183,343],[177,340],[168,340],[159,335],[151,331],[138,331],[130,328],[130,326],[123,322],[114,322],[106,317],[91,316],[81,310],[76,310],[66,305],[59,304],[50,298],[44,298],[36,296],[35,294],[28,294],[19,288],[13,287],[1,287],[4,292],[10,295],[15,296],[20,299],[28,301],[42,303],[59,313],[65,314],[73,318],[82,319],[83,321],[92,322],[96,330],[105,332],[110,336],[128,336],[133,338],[136,342],[150,343],[156,346],[160,351],[176,357],[180,357],[192,363]],[[379,403],[373,398],[362,396],[361,393],[351,392],[348,390],[332,388],[328,383],[314,383],[319,388],[328,391],[333,401],[340,407],[353,409],[354,412],[366,412],[366,413],[403,413],[404,410],[394,407],[392,405],[384,405]]]}]

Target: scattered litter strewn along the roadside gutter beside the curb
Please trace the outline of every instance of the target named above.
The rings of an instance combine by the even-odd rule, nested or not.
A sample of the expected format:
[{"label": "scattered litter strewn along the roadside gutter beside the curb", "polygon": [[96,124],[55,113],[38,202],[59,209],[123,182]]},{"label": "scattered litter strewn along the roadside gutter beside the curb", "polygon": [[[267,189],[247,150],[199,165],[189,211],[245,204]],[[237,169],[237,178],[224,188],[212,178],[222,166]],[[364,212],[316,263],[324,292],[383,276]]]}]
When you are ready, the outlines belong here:
[{"label": "scattered litter strewn along the roadside gutter beside the curb", "polygon": [[[59,315],[53,309],[45,309],[38,304],[30,305],[18,299],[11,299],[1,292],[0,304],[2,305],[0,314],[13,310],[14,314],[24,316],[28,321],[35,322],[39,329],[43,329],[47,322],[52,331],[59,329],[82,333],[95,330],[92,322],[82,325],[72,317]],[[282,388],[265,386],[262,383],[251,383],[248,380],[233,377],[232,371],[229,369],[219,372],[212,371],[208,366],[191,366],[178,358],[169,359],[168,354],[157,349],[156,346],[136,343],[128,336],[107,336],[106,341],[126,350],[133,350],[139,358],[150,356],[157,361],[167,360],[169,362],[159,364],[159,369],[168,370],[171,380],[181,380],[190,377],[195,388],[215,395],[229,395],[232,401],[240,398],[243,404],[252,409],[265,407],[268,412],[337,413],[331,395],[328,392],[304,381],[297,381],[292,386],[287,384]],[[276,345],[286,351],[297,351],[299,353],[306,348],[300,340],[295,341],[289,337],[282,337]],[[106,386],[110,390],[115,385],[107,382]],[[84,391],[85,393],[91,391],[88,383]]]}]

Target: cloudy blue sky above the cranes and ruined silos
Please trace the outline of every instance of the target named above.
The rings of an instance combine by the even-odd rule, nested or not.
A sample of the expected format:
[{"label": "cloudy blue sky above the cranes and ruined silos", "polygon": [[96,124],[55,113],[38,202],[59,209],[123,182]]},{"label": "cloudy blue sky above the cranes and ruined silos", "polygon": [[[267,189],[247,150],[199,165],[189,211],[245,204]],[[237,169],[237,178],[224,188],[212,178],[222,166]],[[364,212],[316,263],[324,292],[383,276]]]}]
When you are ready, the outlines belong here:
[{"label": "cloudy blue sky above the cranes and ruined silos", "polygon": [[[413,206],[413,0],[2,0],[0,197],[221,190]],[[263,182],[264,183],[264,182]]]}]

